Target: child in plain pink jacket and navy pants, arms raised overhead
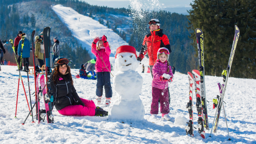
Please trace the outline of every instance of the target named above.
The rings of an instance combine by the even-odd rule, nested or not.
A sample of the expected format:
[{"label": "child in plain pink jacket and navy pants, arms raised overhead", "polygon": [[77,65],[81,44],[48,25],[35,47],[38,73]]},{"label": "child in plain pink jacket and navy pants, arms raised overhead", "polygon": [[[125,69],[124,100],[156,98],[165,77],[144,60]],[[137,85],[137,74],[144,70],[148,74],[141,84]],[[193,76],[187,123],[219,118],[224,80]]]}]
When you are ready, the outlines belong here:
[{"label": "child in plain pink jacket and navy pants, arms raised overhead", "polygon": [[106,96],[106,106],[110,105],[110,99],[112,97],[112,88],[110,83],[110,61],[109,55],[111,50],[109,48],[107,37],[103,35],[102,37],[94,38],[92,42],[92,53],[96,56],[96,64],[95,69],[97,73],[97,104],[100,105],[102,94],[103,94],[103,86],[105,88],[105,96]]}]

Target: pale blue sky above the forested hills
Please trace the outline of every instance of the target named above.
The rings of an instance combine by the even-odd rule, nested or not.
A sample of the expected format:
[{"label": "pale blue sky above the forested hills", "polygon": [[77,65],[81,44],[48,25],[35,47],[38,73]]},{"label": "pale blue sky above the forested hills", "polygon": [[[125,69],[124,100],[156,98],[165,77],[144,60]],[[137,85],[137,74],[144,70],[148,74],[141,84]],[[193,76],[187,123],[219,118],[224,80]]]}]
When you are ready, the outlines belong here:
[{"label": "pale blue sky above the forested hills", "polygon": [[[130,4],[129,0],[84,0],[88,4],[98,5],[98,6],[108,6],[113,8],[128,8]],[[135,0],[131,0],[135,1]],[[141,3],[147,3],[148,0],[137,0]],[[151,0],[149,0],[151,1]],[[180,14],[188,14],[187,10],[191,8],[190,3],[193,3],[192,0],[155,0],[159,3],[164,4],[165,9],[170,12],[177,12]]]}]

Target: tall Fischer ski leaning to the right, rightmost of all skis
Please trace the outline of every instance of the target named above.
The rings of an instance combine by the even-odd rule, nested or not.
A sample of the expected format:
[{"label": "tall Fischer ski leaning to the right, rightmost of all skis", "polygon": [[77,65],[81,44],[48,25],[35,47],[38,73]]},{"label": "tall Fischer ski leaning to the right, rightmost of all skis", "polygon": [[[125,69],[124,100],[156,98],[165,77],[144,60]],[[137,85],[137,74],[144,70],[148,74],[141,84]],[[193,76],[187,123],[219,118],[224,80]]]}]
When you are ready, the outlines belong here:
[{"label": "tall Fischer ski leaning to the right, rightmost of all skis", "polygon": [[[232,49],[231,49],[231,52],[230,52],[228,67],[222,71],[222,77],[223,77],[222,97],[218,101],[218,104],[220,105],[220,108],[216,109],[216,111],[218,111],[218,113],[217,113],[217,116],[215,114],[215,116],[216,116],[215,124],[214,124],[214,121],[213,121],[213,124],[214,124],[213,132],[214,133],[217,133],[217,130],[218,130],[218,123],[219,123],[219,119],[220,119],[221,105],[223,104],[224,94],[225,94],[225,91],[226,91],[226,88],[227,88],[227,83],[228,83],[228,76],[229,76],[230,68],[231,68],[231,65],[232,65],[233,58],[234,58],[234,54],[235,54],[235,50],[236,50],[236,44],[237,44],[237,41],[238,41],[238,38],[239,38],[239,34],[240,34],[239,28],[235,25],[235,36],[234,36],[234,40],[233,40],[233,44],[232,44]],[[214,118],[215,118],[215,116],[214,116]],[[211,133],[212,133],[212,131],[211,131]]]}]

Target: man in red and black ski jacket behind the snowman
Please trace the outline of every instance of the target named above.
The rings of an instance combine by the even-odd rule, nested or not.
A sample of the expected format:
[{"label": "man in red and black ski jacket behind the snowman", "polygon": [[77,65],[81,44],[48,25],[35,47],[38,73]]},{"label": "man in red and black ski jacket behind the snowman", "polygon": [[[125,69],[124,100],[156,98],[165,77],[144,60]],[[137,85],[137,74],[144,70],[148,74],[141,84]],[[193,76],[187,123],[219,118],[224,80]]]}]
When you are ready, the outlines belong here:
[{"label": "man in red and black ski jacket behind the snowman", "polygon": [[148,22],[150,33],[144,37],[140,54],[137,60],[142,60],[148,52],[149,68],[153,78],[152,68],[157,60],[157,51],[159,48],[165,47],[171,53],[169,39],[163,34],[163,29],[160,29],[160,22],[157,19],[152,19]]}]

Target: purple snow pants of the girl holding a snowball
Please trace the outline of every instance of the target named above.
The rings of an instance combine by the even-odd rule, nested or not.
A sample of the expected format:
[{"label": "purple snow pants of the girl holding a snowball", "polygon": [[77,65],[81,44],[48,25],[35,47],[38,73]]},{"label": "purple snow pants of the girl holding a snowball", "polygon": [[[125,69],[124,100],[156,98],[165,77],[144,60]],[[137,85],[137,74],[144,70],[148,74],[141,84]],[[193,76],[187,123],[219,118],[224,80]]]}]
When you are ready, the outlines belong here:
[{"label": "purple snow pants of the girl holding a snowball", "polygon": [[162,114],[168,114],[170,112],[169,109],[169,95],[168,88],[159,89],[156,87],[152,87],[152,103],[150,114],[158,114],[158,99],[160,98],[160,112]]}]

